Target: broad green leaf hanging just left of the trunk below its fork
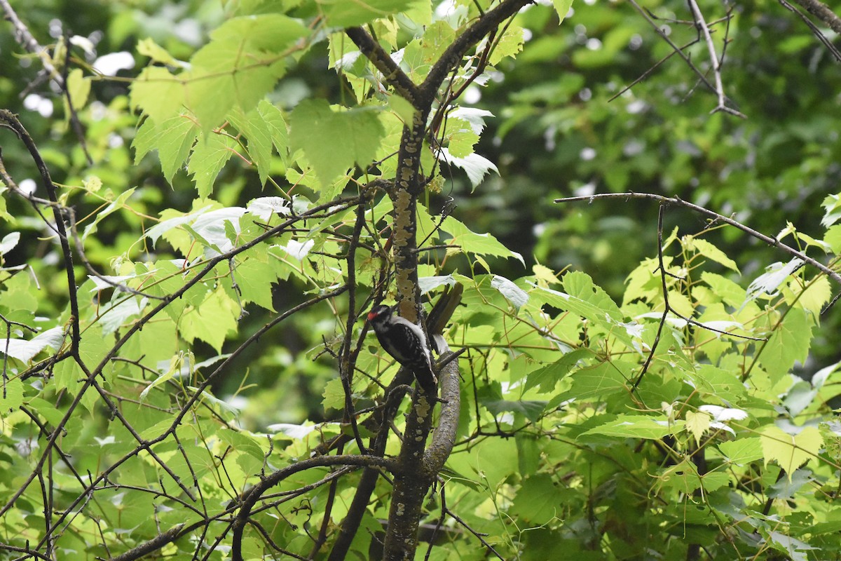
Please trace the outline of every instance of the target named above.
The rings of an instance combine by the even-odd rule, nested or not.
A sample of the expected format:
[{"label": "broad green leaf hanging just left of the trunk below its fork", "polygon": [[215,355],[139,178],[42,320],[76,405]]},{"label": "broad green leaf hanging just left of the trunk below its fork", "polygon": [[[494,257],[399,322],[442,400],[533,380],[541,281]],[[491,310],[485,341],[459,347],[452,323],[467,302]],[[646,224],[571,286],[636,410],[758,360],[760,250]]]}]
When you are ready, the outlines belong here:
[{"label": "broad green leaf hanging just left of the trunk below its fork", "polygon": [[302,101],[289,121],[290,144],[294,150],[304,150],[322,187],[354,164],[368,167],[385,134],[377,109],[342,111],[323,99]]}]

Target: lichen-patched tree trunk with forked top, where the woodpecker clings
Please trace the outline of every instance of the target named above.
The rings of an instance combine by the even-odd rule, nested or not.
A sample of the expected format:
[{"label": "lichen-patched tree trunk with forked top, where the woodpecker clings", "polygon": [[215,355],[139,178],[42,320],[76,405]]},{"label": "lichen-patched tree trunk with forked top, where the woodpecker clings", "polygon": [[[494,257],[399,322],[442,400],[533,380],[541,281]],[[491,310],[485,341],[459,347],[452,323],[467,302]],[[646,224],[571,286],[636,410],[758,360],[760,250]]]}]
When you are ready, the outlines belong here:
[{"label": "lichen-patched tree trunk with forked top, where the woodpecker clings", "polygon": [[[392,251],[395,289],[399,315],[407,320],[418,320],[421,304],[415,213],[417,198],[426,185],[426,178],[421,176],[421,153],[424,149],[426,121],[432,104],[443,81],[461,64],[467,50],[531,1],[503,0],[494,9],[482,14],[442,53],[426,80],[419,85],[411,82],[368,32],[361,28],[346,30],[348,37],[359,47],[362,54],[382,73],[383,80],[415,108],[414,118],[405,124],[403,129],[394,185],[389,188],[389,197],[394,207]],[[448,363],[442,370],[439,377],[442,378],[441,390],[446,401],[442,404],[438,428],[428,452],[426,440],[431,432],[437,396],[427,395],[421,388],[416,389],[410,413],[407,415],[398,468],[394,470],[394,494],[383,548],[383,558],[388,561],[415,558],[424,497],[447,461],[455,442],[459,405],[458,361]],[[370,491],[366,492],[370,494]],[[362,504],[362,501],[359,502]],[[344,539],[348,540],[352,539],[356,529],[343,526],[342,532]],[[331,558],[338,558],[339,553],[333,553]]]}]

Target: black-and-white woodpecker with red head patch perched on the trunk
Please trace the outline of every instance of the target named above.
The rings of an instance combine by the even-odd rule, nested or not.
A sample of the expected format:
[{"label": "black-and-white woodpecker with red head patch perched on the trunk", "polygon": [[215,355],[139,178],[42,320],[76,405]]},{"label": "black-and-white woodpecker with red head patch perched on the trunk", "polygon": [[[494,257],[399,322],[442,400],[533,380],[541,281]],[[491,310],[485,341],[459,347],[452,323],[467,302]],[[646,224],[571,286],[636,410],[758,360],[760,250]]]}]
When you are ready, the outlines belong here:
[{"label": "black-and-white woodpecker with red head patch perched on the trunk", "polygon": [[385,352],[409,368],[426,392],[436,394],[438,379],[432,371],[432,360],[421,327],[394,315],[389,306],[382,304],[368,312],[368,321]]}]

